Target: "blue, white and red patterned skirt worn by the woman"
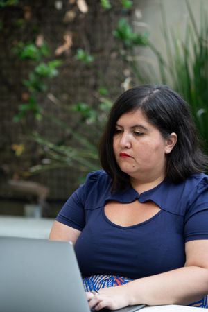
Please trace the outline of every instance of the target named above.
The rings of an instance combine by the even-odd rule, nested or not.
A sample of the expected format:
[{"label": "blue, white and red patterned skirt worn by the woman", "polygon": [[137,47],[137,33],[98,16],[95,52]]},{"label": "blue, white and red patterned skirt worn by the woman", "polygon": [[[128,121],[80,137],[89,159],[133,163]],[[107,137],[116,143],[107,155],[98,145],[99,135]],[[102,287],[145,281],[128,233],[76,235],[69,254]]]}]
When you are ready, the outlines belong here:
[{"label": "blue, white and red patterned skirt worn by the woman", "polygon": [[[121,277],[116,275],[92,275],[89,277],[83,277],[83,285],[85,291],[98,291],[105,287],[114,287],[119,285],[127,284],[129,281],[128,277]],[[197,306],[198,308],[208,309],[208,296],[202,298],[197,302],[189,304],[189,306]]]}]

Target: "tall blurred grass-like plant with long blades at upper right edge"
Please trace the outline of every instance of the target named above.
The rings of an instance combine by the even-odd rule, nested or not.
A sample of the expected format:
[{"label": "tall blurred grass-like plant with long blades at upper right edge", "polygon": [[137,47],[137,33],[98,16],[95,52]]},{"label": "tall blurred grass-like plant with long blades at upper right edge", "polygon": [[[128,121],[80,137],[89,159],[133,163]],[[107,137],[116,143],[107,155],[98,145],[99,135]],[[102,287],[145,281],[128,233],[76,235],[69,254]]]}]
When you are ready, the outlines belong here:
[{"label": "tall blurred grass-like plant with long blades at upper right edge", "polygon": [[[174,49],[169,55],[173,60],[173,87],[184,96],[208,152],[208,23],[207,15],[201,11],[200,27],[187,1],[190,22],[187,24],[184,40],[180,43],[172,32]],[[167,36],[166,36],[167,38]],[[167,44],[170,44],[168,41]],[[170,48],[169,48],[170,49]],[[171,68],[168,67],[168,73]]]}]

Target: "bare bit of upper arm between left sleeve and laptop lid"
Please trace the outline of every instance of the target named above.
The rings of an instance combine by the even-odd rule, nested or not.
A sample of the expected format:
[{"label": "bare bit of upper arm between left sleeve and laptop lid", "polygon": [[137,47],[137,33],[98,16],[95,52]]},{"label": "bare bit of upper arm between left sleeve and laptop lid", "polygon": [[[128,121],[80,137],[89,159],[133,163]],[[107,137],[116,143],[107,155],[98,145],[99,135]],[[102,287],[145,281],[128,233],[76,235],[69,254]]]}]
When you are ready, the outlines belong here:
[{"label": "bare bit of upper arm between left sleeve and laptop lid", "polygon": [[73,229],[73,227],[55,221],[51,228],[49,239],[52,241],[71,241],[74,245],[80,233],[81,231],[78,231],[78,229]]}]

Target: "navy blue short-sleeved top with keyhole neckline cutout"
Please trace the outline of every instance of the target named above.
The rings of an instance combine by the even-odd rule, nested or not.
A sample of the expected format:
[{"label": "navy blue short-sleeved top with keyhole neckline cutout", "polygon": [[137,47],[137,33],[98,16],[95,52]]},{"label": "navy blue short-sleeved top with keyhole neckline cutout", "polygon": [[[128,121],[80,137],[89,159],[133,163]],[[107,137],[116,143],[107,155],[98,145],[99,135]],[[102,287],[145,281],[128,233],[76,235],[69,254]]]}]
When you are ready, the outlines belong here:
[{"label": "navy blue short-sleeved top with keyhole neckline cutout", "polygon": [[[192,175],[180,184],[163,181],[137,193],[129,187],[111,193],[105,171],[87,175],[56,220],[82,231],[75,250],[84,276],[104,274],[137,279],[184,266],[184,243],[208,239],[208,176]],[[151,200],[161,209],[145,222],[128,227],[105,216],[108,200]]]}]

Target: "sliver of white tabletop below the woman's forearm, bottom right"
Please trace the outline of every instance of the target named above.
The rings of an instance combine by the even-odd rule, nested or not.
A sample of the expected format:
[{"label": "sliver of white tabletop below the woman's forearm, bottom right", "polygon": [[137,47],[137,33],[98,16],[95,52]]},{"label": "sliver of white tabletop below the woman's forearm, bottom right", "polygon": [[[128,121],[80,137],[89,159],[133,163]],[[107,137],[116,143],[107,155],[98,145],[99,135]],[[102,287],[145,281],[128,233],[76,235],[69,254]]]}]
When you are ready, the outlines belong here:
[{"label": "sliver of white tabletop below the woman's forearm, bottom right", "polygon": [[200,311],[207,311],[207,309],[196,308],[196,306],[179,306],[175,304],[167,305],[167,306],[146,306],[138,312],[200,312]]}]

